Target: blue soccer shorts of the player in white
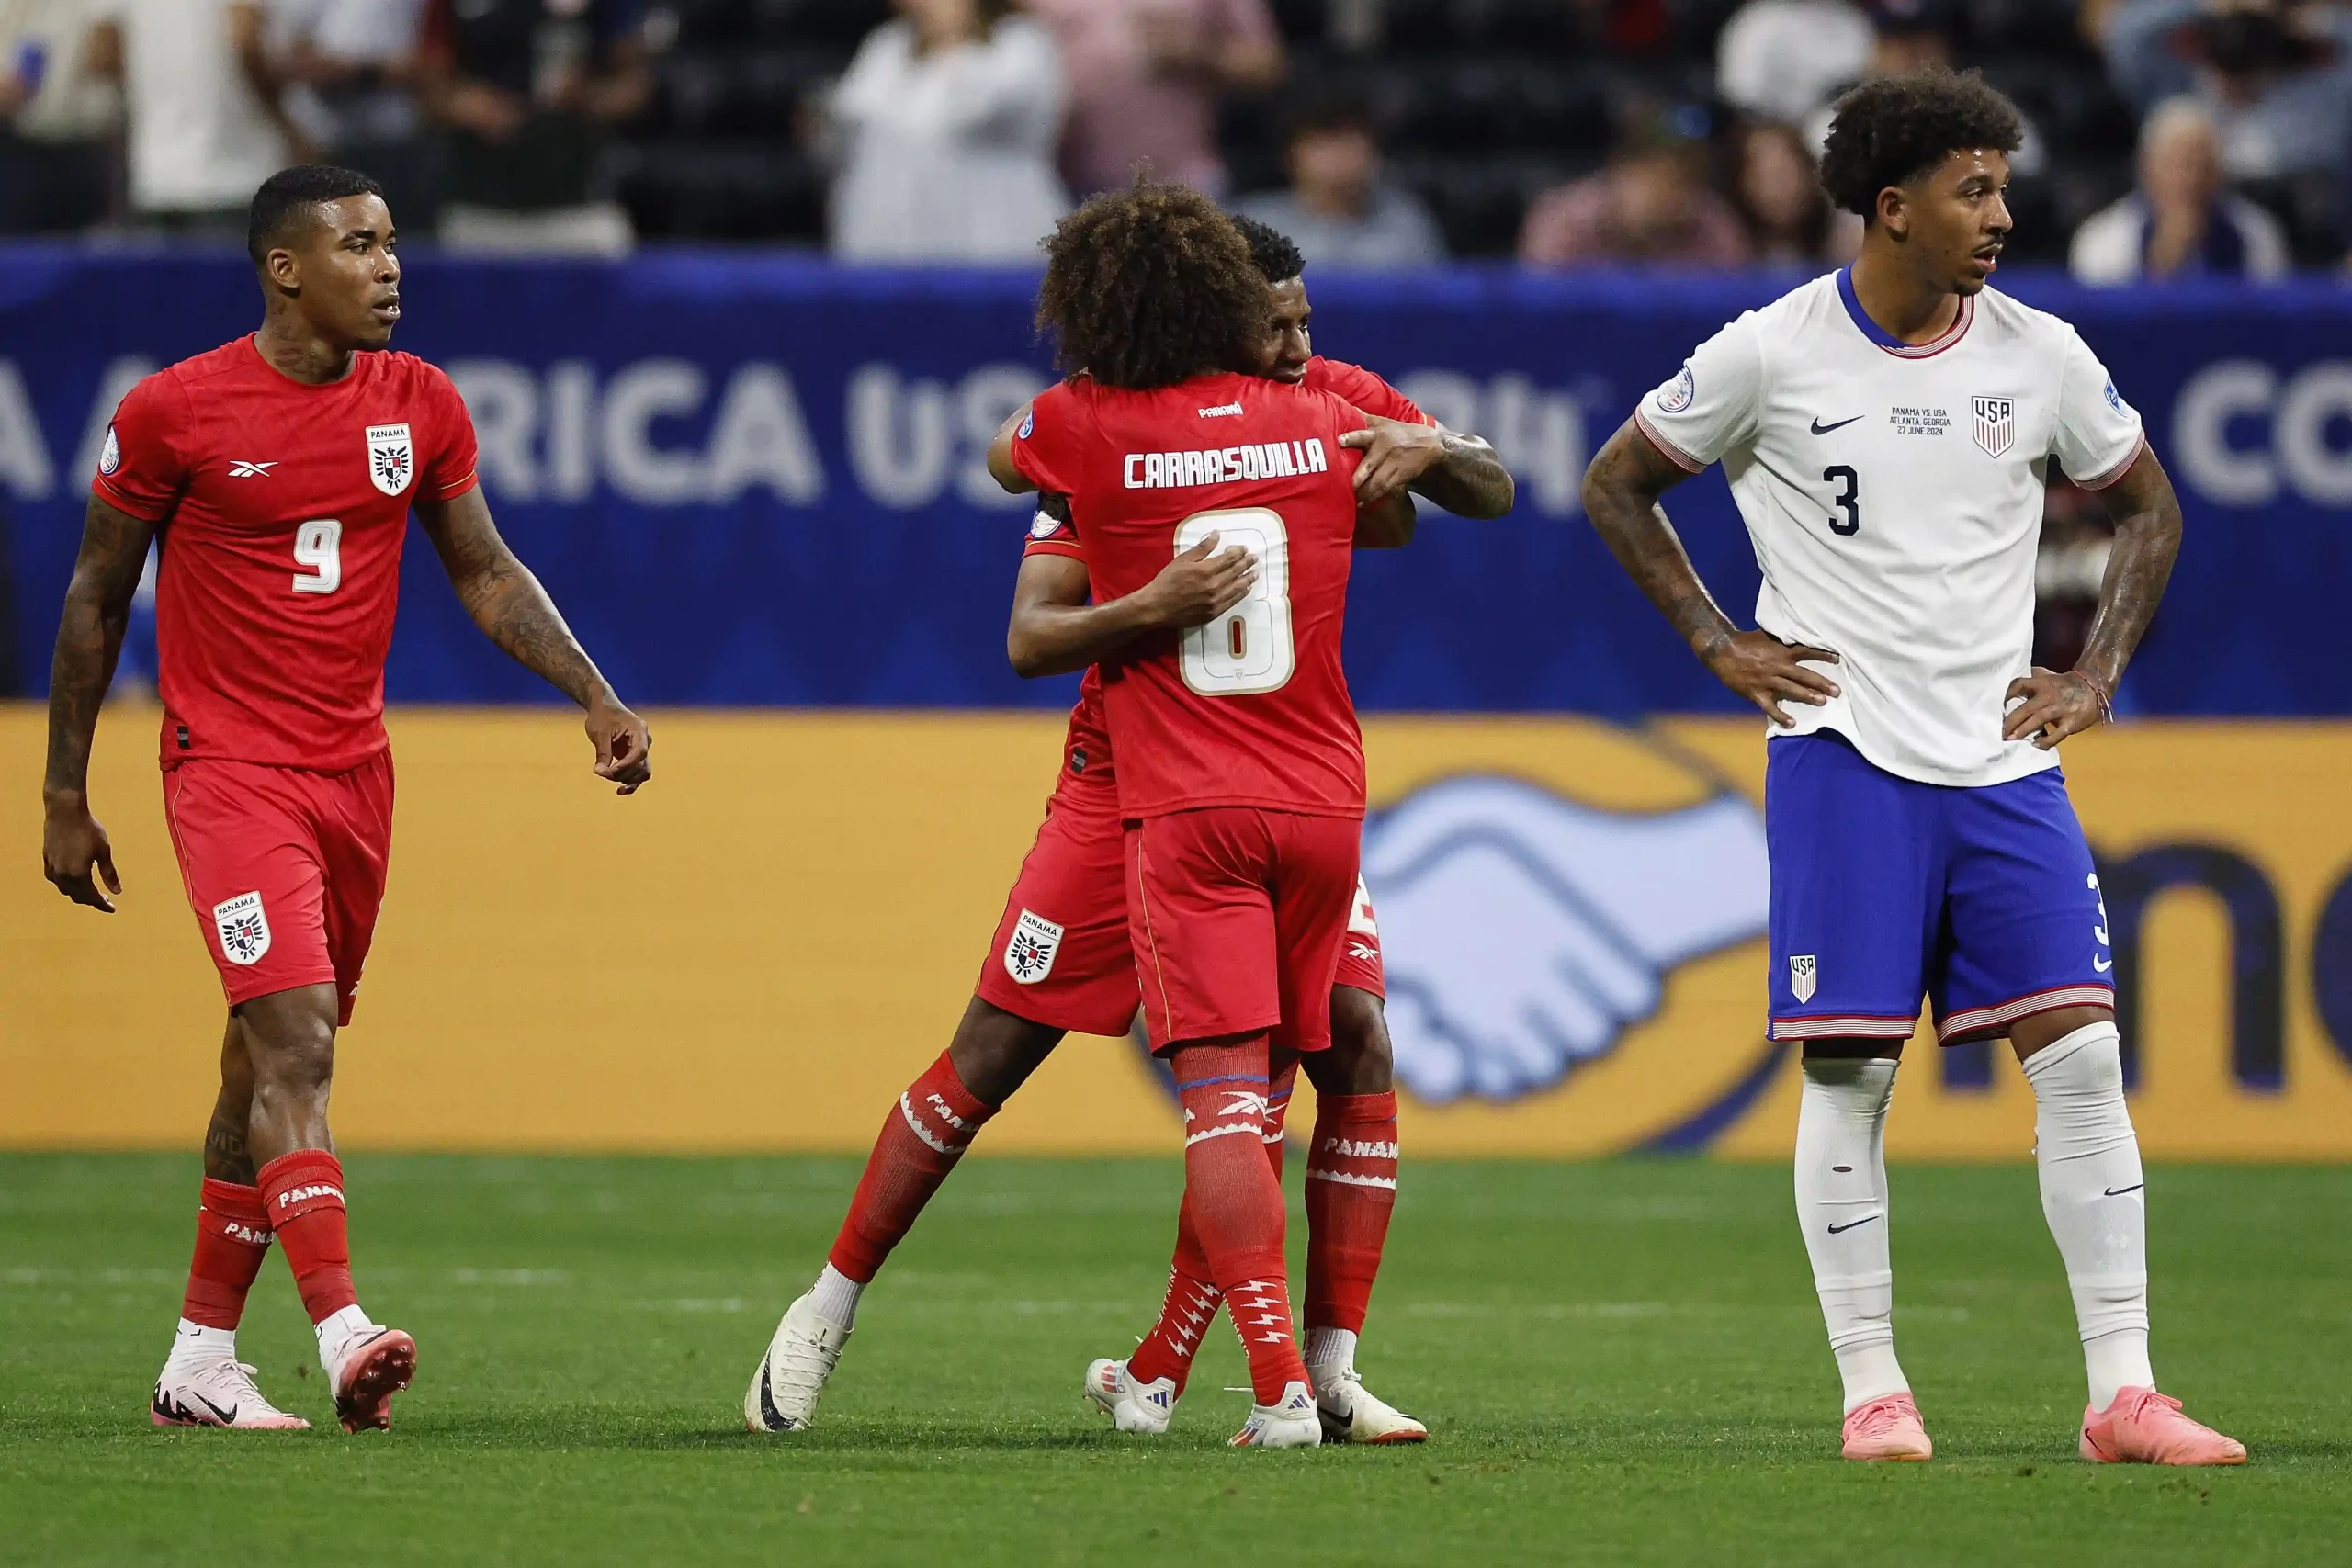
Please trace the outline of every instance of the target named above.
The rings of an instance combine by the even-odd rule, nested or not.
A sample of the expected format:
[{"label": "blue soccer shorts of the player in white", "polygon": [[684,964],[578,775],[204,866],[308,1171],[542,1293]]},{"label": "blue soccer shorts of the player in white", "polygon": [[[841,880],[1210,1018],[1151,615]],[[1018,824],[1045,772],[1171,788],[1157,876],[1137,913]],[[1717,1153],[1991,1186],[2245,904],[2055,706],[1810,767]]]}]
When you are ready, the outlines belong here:
[{"label": "blue soccer shorts of the player in white", "polygon": [[2091,846],[2058,769],[1926,785],[1835,731],[1766,745],[1771,1037],[1943,1044],[2114,1006]]}]

